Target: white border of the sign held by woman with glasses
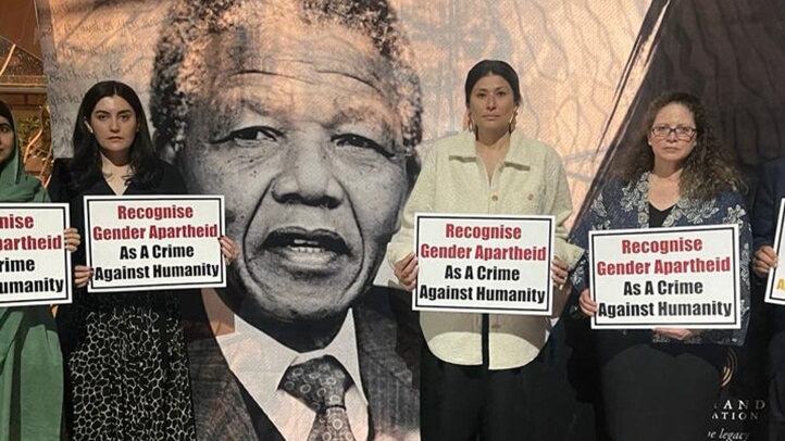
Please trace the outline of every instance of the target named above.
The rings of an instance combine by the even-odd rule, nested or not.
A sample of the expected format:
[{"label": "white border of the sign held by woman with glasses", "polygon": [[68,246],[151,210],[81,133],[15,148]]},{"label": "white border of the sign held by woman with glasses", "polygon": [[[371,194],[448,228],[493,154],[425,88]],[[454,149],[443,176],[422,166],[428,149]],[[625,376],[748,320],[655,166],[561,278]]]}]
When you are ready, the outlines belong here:
[{"label": "white border of the sign held by woman with glasses", "polygon": [[[597,278],[595,277],[596,268],[596,250],[595,239],[599,237],[608,236],[624,236],[634,237],[643,236],[647,234],[683,234],[693,231],[723,231],[730,232],[731,247],[733,248],[733,254],[731,256],[731,274],[733,275],[733,304],[731,316],[733,323],[723,322],[657,322],[653,323],[651,319],[641,320],[640,323],[598,323],[597,315],[591,317],[593,329],[652,329],[652,328],[688,328],[688,329],[739,329],[742,327],[742,291],[740,291],[740,268],[739,268],[739,243],[738,243],[738,225],[736,224],[722,224],[722,225],[705,225],[705,226],[685,226],[685,227],[661,227],[661,228],[633,228],[633,229],[613,229],[613,230],[593,230],[589,231],[589,273],[590,273],[590,293],[591,299],[596,302],[596,284]],[[657,317],[657,316],[655,316]],[[649,317],[650,318],[650,317]]]}]

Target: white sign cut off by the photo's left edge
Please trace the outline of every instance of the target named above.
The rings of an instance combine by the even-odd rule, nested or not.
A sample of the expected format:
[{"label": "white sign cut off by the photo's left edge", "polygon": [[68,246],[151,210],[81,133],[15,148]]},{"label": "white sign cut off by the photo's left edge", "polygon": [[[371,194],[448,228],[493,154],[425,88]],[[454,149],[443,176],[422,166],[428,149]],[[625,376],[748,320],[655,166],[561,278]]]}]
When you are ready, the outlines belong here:
[{"label": "white sign cut off by the photo's left edge", "polygon": [[71,303],[68,205],[0,203],[0,306]]}]

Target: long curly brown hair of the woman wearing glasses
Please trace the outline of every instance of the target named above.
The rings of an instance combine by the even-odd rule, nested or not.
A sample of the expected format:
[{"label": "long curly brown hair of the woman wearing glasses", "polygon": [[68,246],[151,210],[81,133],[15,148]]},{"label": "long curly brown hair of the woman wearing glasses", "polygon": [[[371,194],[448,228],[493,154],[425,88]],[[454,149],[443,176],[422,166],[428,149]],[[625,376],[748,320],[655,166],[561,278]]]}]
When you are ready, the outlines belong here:
[{"label": "long curly brown hair of the woman wearing glasses", "polygon": [[660,110],[674,103],[684,105],[693,114],[697,137],[695,148],[682,167],[678,182],[682,196],[708,200],[723,189],[744,191],[746,189],[744,178],[734,165],[727,149],[714,135],[714,127],[709,121],[703,103],[698,97],[681,91],[665,92],[651,101],[644,116],[638,141],[624,156],[619,176],[631,182],[653,169],[655,154],[649,146],[648,135]]}]

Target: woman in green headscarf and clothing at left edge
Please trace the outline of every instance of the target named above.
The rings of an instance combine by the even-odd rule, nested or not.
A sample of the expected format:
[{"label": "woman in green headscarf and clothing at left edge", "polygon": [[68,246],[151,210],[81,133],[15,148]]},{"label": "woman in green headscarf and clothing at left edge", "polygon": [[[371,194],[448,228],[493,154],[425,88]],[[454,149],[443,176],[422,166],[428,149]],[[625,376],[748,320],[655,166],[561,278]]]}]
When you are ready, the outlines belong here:
[{"label": "woman in green headscarf and clothing at left edge", "polygon": [[[48,202],[41,182],[25,173],[11,110],[0,101],[0,202]],[[65,230],[66,248],[79,235]],[[60,440],[63,368],[48,306],[0,307],[0,441]]]}]

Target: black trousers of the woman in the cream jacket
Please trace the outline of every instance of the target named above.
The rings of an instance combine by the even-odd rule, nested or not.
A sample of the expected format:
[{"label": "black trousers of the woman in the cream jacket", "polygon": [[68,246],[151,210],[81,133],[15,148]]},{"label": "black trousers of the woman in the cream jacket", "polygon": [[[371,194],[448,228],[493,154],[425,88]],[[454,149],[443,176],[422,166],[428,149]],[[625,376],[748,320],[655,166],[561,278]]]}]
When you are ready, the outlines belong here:
[{"label": "black trousers of the woman in the cream jacket", "polygon": [[535,358],[490,370],[437,358],[422,345],[420,431],[423,441],[525,441],[534,431]]}]

